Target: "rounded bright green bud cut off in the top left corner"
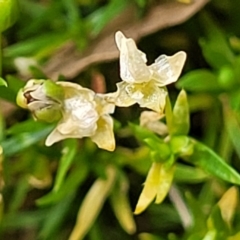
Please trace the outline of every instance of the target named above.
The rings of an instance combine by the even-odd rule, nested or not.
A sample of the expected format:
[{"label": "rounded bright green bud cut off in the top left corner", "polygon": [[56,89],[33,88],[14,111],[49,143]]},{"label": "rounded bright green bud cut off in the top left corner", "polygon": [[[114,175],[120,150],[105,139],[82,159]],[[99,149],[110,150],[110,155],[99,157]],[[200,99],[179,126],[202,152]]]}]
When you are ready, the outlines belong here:
[{"label": "rounded bright green bud cut off in the top left corner", "polygon": [[19,6],[17,0],[0,1],[0,32],[11,27],[18,18]]}]

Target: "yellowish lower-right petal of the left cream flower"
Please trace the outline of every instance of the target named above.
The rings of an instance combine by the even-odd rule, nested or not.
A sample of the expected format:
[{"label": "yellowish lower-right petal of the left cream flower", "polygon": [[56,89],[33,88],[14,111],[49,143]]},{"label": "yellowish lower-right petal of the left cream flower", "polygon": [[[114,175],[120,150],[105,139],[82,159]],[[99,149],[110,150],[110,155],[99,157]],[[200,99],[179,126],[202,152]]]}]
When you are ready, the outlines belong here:
[{"label": "yellowish lower-right petal of the left cream flower", "polygon": [[97,131],[91,136],[91,139],[99,148],[108,151],[113,151],[115,149],[113,120],[110,116],[105,115],[99,118],[97,122]]}]

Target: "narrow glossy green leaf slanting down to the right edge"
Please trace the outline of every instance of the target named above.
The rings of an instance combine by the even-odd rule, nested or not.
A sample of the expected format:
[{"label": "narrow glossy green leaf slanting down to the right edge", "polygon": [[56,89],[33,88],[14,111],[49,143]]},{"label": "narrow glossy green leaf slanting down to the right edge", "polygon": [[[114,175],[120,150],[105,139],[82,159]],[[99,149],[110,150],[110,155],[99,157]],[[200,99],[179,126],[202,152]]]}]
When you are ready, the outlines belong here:
[{"label": "narrow glossy green leaf slanting down to the right edge", "polygon": [[191,139],[194,149],[191,156],[183,158],[199,167],[206,172],[219,177],[230,183],[240,185],[239,173],[229,166],[220,156],[204,144]]}]

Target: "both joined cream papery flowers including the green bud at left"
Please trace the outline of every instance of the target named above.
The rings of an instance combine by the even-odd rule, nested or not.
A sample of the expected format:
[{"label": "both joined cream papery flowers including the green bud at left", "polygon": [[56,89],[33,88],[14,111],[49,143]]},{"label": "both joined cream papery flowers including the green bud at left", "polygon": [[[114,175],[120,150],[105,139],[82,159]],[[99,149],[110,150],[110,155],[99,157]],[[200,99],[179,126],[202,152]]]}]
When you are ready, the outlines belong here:
[{"label": "both joined cream papery flowers including the green bud at left", "polygon": [[[181,51],[171,57],[161,55],[147,66],[146,55],[137,49],[133,39],[117,32],[116,44],[123,81],[117,83],[114,93],[96,94],[75,83],[55,84],[49,80],[46,81],[48,86],[43,80],[30,80],[20,90],[18,104],[32,111],[36,119],[59,120],[46,140],[47,146],[66,138],[90,137],[98,147],[113,151],[113,120],[109,114],[114,112],[115,106],[138,103],[140,107],[163,113],[167,95],[163,87],[177,81],[186,53]],[[61,96],[57,94],[59,89]]]}]

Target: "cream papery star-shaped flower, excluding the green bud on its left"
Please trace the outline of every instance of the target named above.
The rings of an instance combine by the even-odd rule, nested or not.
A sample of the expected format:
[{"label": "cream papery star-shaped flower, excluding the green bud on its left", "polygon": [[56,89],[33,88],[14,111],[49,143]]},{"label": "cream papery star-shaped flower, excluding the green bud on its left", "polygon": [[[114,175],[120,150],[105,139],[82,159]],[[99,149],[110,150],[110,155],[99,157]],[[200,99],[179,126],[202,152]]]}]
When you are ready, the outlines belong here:
[{"label": "cream papery star-shaped flower, excluding the green bud on its left", "polygon": [[69,82],[58,82],[65,92],[63,118],[48,136],[50,146],[65,138],[90,137],[98,147],[113,151],[115,139],[113,120],[109,116],[115,106],[104,100],[104,95],[95,94],[87,88]]}]

